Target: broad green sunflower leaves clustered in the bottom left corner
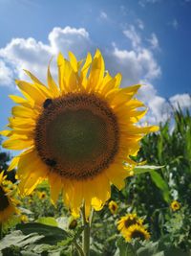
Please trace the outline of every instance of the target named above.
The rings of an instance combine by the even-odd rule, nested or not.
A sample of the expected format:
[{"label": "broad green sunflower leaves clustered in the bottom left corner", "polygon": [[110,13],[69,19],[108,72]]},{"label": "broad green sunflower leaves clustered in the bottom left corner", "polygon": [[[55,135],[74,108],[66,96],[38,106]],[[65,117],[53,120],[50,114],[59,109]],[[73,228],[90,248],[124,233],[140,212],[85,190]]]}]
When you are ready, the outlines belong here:
[{"label": "broad green sunflower leaves clustered in the bottom left corner", "polygon": [[[18,224],[17,230],[0,241],[0,255],[71,255],[74,248],[70,245],[76,244],[83,228],[71,233],[53,226],[53,220],[49,221],[51,225]],[[76,253],[76,249],[74,251]]]}]

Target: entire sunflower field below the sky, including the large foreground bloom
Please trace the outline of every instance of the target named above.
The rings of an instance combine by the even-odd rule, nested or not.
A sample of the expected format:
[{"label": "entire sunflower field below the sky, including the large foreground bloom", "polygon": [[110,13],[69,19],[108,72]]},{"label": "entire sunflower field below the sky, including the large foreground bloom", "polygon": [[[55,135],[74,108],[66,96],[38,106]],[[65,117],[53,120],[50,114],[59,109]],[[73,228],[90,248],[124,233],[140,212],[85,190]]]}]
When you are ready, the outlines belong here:
[{"label": "entire sunflower field below the sky, including the large foreground bloom", "polygon": [[[191,115],[143,125],[139,84],[95,57],[16,81],[0,152],[0,255],[191,255]],[[11,157],[10,151],[16,152]]]}]

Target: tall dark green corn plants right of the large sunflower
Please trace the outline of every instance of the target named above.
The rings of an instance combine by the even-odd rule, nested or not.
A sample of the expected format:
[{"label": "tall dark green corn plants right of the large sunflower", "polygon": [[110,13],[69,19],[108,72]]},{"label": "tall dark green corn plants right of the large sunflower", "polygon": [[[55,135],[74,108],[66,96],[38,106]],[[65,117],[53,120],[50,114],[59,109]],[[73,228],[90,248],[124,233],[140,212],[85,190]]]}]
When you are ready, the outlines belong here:
[{"label": "tall dark green corn plants right of the large sunflower", "polygon": [[[190,113],[175,111],[173,121],[161,124],[158,133],[146,136],[137,160],[147,160],[147,165],[162,168],[146,173],[138,166],[142,174],[127,178],[122,194],[117,195],[114,190],[113,195],[130,204],[138,215],[146,216],[152,238],[157,241],[167,234],[165,222],[173,218],[172,200],[180,201],[181,206],[187,207],[186,216],[191,216]],[[186,247],[188,239],[185,237],[182,243]]]}]

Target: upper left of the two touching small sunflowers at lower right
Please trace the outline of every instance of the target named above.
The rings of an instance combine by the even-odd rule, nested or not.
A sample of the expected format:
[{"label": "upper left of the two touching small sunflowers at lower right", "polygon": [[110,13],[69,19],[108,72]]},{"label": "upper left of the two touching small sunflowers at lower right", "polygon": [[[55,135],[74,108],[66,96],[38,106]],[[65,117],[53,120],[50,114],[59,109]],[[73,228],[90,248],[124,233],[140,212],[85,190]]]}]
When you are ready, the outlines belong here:
[{"label": "upper left of the two touching small sunflowers at lower right", "polygon": [[117,221],[117,229],[122,233],[126,233],[131,225],[142,225],[143,220],[139,219],[137,214],[127,214]]}]

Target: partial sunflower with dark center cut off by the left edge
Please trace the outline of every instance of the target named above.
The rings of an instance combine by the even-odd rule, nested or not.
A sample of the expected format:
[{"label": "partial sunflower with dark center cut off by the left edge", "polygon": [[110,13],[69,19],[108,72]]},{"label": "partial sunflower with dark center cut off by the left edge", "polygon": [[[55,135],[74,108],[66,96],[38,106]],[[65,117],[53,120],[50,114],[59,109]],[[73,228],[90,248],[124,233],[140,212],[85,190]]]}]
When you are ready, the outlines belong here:
[{"label": "partial sunflower with dark center cut off by the left edge", "polygon": [[14,198],[14,186],[6,179],[4,172],[0,173],[0,224],[9,221],[13,214],[19,211],[16,208],[18,200]]}]

